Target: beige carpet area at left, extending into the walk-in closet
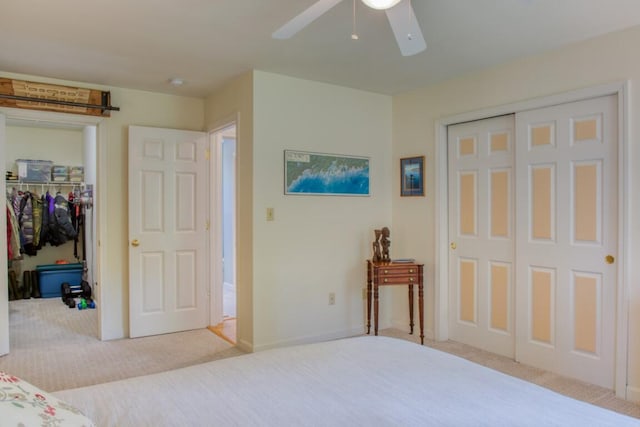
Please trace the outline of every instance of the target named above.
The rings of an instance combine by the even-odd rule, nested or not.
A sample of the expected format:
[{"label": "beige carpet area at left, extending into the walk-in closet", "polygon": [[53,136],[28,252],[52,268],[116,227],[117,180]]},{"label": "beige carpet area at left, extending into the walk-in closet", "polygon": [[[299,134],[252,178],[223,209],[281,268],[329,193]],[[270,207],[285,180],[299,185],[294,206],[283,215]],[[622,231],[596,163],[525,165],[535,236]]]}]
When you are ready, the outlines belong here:
[{"label": "beige carpet area at left, extending into the walk-in closet", "polygon": [[9,302],[11,352],[0,370],[46,391],[83,387],[243,354],[207,329],[100,341],[96,310],[59,298]]}]

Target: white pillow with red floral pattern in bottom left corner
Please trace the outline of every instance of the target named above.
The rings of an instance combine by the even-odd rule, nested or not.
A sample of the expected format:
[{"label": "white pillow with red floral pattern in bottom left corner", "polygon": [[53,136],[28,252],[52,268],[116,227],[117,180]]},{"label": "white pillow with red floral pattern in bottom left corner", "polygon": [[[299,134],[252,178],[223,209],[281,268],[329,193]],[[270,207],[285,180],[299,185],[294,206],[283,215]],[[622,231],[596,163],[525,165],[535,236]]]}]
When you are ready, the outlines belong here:
[{"label": "white pillow with red floral pattern in bottom left corner", "polygon": [[3,426],[94,426],[73,406],[2,371],[0,414]]}]

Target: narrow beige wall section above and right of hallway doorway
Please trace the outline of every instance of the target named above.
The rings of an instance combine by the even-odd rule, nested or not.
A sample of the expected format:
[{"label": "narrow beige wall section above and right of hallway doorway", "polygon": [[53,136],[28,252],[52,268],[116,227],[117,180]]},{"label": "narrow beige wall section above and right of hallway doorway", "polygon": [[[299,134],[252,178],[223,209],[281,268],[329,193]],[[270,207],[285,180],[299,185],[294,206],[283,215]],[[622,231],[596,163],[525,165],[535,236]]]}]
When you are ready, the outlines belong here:
[{"label": "narrow beige wall section above and right of hallway doorway", "polygon": [[253,349],[253,72],[207,98],[205,122],[214,130],[236,121],[236,309],[238,345]]}]

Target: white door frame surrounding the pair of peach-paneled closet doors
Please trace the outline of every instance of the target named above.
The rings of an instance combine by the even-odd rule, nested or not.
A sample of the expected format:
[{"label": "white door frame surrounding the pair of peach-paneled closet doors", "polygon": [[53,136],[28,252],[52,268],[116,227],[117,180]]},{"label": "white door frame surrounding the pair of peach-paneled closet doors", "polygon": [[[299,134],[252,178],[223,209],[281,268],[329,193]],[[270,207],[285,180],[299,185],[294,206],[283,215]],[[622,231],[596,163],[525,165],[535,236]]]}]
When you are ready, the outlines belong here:
[{"label": "white door frame surrounding the pair of peach-paneled closet doors", "polygon": [[449,218],[448,218],[448,164],[447,126],[472,120],[481,120],[520,111],[550,107],[574,101],[616,95],[618,100],[618,270],[616,286],[616,344],[615,344],[615,393],[626,399],[629,335],[629,202],[625,197],[629,187],[629,82],[621,81],[579,89],[557,95],[514,102],[498,107],[484,108],[468,113],[443,117],[435,122],[435,200],[436,251],[434,262],[435,283],[435,339],[449,338]]}]

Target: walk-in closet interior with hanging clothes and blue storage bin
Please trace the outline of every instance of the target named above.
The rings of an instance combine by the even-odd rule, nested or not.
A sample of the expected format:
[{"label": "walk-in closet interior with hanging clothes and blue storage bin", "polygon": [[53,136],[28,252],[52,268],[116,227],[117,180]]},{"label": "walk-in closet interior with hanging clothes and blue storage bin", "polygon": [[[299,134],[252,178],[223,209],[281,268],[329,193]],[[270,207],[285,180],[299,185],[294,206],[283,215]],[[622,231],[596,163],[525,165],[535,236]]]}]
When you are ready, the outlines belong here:
[{"label": "walk-in closet interior with hanging clothes and blue storage bin", "polygon": [[5,129],[11,345],[79,325],[95,338],[96,129],[33,120]]}]

